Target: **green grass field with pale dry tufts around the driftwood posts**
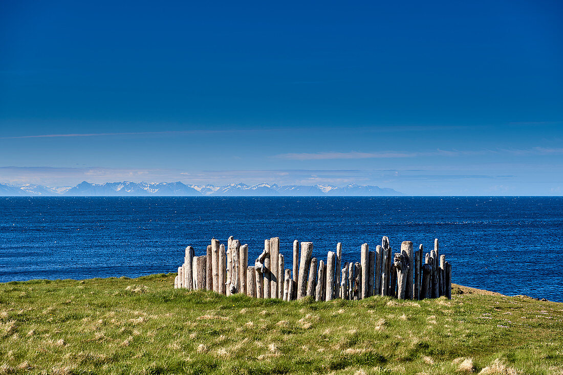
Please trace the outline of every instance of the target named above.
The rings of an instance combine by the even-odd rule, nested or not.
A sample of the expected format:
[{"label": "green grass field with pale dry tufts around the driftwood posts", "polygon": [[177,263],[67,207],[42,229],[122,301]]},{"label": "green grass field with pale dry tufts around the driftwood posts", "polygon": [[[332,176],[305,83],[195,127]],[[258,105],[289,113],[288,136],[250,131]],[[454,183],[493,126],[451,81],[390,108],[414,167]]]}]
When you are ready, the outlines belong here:
[{"label": "green grass field with pale dry tufts around the driftwood posts", "polygon": [[284,302],[174,276],[0,284],[0,374],[563,374],[563,303]]}]

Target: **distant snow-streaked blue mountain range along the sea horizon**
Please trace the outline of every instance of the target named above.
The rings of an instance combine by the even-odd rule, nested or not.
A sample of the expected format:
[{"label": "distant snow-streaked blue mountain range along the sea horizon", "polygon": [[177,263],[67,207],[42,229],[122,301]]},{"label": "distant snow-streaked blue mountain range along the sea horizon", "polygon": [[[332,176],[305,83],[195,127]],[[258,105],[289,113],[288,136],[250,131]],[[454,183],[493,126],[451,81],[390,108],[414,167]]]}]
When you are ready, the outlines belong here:
[{"label": "distant snow-streaked blue mountain range along the sea horizon", "polygon": [[90,184],[83,181],[74,187],[47,187],[42,185],[9,185],[0,183],[0,196],[47,196],[47,197],[93,197],[93,196],[190,196],[200,197],[206,195],[218,196],[377,196],[377,195],[404,195],[388,187],[372,185],[350,184],[344,187],[332,185],[270,185],[258,184],[248,186],[245,184],[230,184],[225,186],[214,185],[185,185],[182,182],[106,182],[105,184]]}]

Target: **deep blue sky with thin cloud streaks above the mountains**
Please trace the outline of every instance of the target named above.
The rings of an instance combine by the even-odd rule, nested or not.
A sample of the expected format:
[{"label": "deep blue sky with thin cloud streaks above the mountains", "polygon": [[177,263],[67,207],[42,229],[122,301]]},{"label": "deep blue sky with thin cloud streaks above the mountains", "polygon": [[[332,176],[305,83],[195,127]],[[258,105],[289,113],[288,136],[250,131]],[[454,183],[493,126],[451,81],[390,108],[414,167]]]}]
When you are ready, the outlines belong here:
[{"label": "deep blue sky with thin cloud streaks above the mountains", "polygon": [[0,182],[563,194],[563,3],[0,2]]}]

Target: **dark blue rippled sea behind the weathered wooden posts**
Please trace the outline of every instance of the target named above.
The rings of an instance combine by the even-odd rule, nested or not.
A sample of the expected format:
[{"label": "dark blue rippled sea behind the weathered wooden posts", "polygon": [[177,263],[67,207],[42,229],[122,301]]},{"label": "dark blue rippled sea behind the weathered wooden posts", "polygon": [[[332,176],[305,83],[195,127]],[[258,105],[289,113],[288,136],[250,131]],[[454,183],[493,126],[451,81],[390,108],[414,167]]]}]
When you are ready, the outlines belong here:
[{"label": "dark blue rippled sea behind the weathered wooden posts", "polygon": [[0,282],[174,272],[230,235],[249,264],[279,236],[287,268],[294,239],[358,261],[438,238],[453,283],[563,302],[563,197],[0,197]]}]

